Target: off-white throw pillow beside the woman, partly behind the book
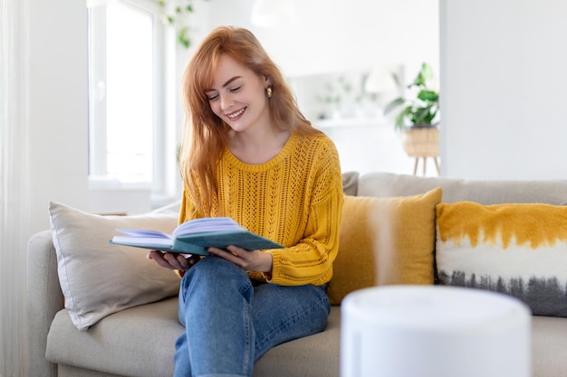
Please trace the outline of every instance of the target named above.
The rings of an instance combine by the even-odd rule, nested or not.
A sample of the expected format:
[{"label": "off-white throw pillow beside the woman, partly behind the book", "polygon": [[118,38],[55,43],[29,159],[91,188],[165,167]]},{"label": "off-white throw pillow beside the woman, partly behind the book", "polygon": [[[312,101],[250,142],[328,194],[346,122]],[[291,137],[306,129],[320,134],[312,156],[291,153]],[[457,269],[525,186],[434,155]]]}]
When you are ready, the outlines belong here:
[{"label": "off-white throw pillow beside the woman, partly behind the book", "polygon": [[65,308],[78,329],[120,310],[177,295],[178,276],[146,259],[148,250],[109,240],[119,228],[173,231],[178,205],[135,216],[101,216],[52,202],[49,213]]}]

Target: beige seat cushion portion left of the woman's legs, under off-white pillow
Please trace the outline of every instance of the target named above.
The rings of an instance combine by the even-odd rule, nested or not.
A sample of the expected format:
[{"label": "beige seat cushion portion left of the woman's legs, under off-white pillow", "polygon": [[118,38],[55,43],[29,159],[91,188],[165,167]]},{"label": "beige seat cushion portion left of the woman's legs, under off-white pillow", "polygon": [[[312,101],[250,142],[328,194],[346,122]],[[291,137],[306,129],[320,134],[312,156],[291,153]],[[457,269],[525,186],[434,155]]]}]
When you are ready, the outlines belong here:
[{"label": "beige seat cushion portion left of the woman's legs, under off-white pillow", "polygon": [[183,332],[177,297],[121,310],[85,331],[77,331],[69,314],[62,309],[53,319],[48,361],[120,376],[173,375],[175,341]]}]

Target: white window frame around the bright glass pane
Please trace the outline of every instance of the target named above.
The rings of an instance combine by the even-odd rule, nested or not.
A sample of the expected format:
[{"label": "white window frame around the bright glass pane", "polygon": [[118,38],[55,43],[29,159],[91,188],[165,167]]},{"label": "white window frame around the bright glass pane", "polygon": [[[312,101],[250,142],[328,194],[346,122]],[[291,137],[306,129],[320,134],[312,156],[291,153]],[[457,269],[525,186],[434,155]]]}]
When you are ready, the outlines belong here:
[{"label": "white window frame around the bright glass pane", "polygon": [[[125,183],[107,174],[106,103],[94,100],[100,95],[92,82],[106,82],[106,14],[104,6],[115,2],[149,14],[153,24],[153,119],[152,119],[152,178],[149,183]],[[149,190],[152,208],[170,203],[180,194],[178,179],[177,85],[175,83],[175,35],[161,21],[162,9],[151,0],[87,0],[89,7],[89,189],[104,191]],[[92,32],[92,26],[98,31]],[[91,50],[91,43],[93,43]],[[92,53],[91,53],[92,52]],[[104,93],[106,96],[106,93]]]}]

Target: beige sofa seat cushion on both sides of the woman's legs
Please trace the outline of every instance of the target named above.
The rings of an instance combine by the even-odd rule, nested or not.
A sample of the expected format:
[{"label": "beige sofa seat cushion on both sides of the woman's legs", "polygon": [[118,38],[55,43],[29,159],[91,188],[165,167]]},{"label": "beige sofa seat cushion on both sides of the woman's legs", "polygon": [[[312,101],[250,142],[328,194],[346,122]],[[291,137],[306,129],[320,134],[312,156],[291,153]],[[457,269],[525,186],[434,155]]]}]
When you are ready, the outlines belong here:
[{"label": "beige sofa seat cushion on both sides of the woman's legs", "polygon": [[[46,357],[52,363],[116,375],[171,376],[175,341],[183,332],[177,315],[178,299],[171,297],[77,331],[63,309],[53,319]],[[275,346],[255,363],[254,376],[338,377],[340,332],[341,308],[333,306],[324,332]]]}]

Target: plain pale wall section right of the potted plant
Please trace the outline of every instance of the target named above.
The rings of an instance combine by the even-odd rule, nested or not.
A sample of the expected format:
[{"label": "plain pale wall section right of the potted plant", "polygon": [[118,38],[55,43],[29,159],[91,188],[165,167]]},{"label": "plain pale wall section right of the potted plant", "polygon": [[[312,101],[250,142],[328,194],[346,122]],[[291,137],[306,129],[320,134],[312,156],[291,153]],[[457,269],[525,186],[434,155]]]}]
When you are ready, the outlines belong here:
[{"label": "plain pale wall section right of the potted plant", "polygon": [[440,7],[443,174],[567,179],[567,3]]}]

